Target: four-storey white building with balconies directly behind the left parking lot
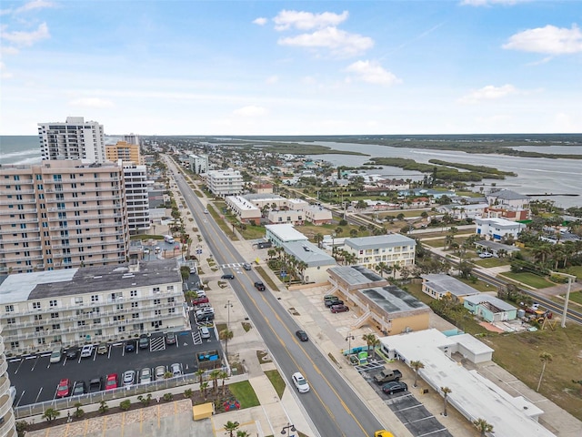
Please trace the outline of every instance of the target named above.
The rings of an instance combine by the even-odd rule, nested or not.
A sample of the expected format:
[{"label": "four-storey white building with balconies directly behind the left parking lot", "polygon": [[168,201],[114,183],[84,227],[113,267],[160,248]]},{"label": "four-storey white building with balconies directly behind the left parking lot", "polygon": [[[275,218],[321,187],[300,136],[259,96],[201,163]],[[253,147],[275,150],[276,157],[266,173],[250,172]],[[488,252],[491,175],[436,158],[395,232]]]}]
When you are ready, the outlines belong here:
[{"label": "four-storey white building with balconies directly behind the left parking lot", "polygon": [[188,328],[176,260],[23,273],[0,283],[7,351],[49,351]]}]

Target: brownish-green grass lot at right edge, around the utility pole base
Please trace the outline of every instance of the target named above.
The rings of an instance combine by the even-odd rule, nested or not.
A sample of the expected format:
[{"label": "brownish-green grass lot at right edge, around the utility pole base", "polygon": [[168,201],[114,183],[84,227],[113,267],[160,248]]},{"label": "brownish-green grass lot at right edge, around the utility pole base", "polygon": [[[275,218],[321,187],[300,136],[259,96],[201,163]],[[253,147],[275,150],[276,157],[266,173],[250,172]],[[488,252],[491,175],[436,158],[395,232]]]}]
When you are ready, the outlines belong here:
[{"label": "brownish-green grass lot at right edge, around the utility pole base", "polygon": [[[540,393],[555,402],[577,419],[582,420],[582,393],[580,384],[580,351],[582,327],[570,323],[561,329],[538,330],[520,334],[489,334],[484,340],[495,349],[493,361],[525,382],[537,388],[542,370],[541,352],[549,352],[552,361],[547,363]],[[540,405],[543,409],[543,406]]]}]

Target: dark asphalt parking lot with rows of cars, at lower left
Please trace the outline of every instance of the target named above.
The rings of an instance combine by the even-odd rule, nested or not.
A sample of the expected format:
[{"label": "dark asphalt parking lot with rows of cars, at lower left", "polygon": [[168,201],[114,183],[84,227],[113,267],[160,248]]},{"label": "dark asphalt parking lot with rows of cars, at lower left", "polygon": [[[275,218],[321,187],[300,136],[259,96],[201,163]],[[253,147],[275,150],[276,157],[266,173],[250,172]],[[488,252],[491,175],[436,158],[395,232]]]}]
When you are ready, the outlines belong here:
[{"label": "dark asphalt parking lot with rows of cars, at lower left", "polygon": [[[162,332],[150,336],[147,349],[135,348],[135,351],[125,351],[128,341],[123,340],[108,344],[106,354],[96,353],[96,344],[93,353],[88,358],[74,360],[63,358],[58,363],[50,362],[51,352],[40,353],[24,357],[8,358],[8,373],[12,385],[16,388],[15,406],[23,406],[41,401],[51,401],[56,397],[56,388],[62,379],[71,381],[89,381],[103,378],[108,374],[116,373],[118,384],[122,384],[122,375],[125,371],[135,371],[139,374],[144,368],[169,366],[173,363],[181,364],[184,373],[196,372],[195,356],[202,351],[220,351],[220,341],[216,339],[216,332],[210,329],[210,338],[202,339],[196,324],[193,330],[176,332],[176,344],[167,344]],[[65,350],[66,351],[66,350]],[[138,381],[137,381],[138,382]]]}]

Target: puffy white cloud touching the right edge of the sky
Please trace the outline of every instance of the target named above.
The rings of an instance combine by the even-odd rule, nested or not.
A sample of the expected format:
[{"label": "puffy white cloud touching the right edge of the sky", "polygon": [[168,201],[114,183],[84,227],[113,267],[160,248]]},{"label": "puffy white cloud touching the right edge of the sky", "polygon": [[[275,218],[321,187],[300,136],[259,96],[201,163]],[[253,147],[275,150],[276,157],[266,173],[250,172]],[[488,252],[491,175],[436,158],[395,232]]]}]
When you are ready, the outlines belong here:
[{"label": "puffy white cloud touching the right edge of the sky", "polygon": [[582,52],[582,32],[577,25],[571,29],[547,25],[527,29],[510,36],[503,48],[546,55],[565,55]]}]

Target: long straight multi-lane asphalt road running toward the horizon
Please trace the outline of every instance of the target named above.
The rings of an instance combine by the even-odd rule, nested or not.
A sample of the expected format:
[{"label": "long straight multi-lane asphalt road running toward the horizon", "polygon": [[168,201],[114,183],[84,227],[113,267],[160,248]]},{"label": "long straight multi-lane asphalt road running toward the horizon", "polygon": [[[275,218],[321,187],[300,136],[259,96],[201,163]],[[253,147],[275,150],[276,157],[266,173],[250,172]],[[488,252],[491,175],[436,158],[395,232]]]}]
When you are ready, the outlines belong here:
[{"label": "long straight multi-lane asphalt road running toward the horizon", "polygon": [[[168,168],[177,175],[178,170],[173,162],[168,162]],[[177,175],[176,183],[216,262],[220,265],[246,261],[218,228],[214,219],[203,213],[204,206],[186,180]],[[293,387],[289,381],[296,371],[301,371],[309,381],[311,391],[297,396],[319,435],[367,437],[381,429],[382,425],[374,414],[316,346],[310,341],[299,342],[296,339],[295,331],[299,327],[291,315],[281,308],[276,297],[268,290],[260,292],[254,288],[254,281],[260,279],[256,273],[253,270],[232,272],[236,276],[230,284],[263,337],[289,387]]]}]

